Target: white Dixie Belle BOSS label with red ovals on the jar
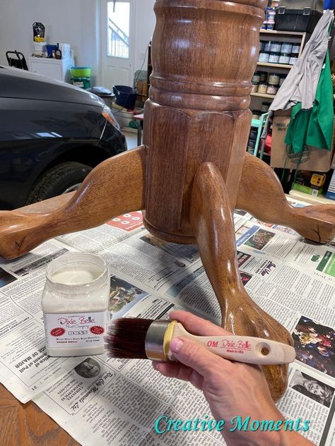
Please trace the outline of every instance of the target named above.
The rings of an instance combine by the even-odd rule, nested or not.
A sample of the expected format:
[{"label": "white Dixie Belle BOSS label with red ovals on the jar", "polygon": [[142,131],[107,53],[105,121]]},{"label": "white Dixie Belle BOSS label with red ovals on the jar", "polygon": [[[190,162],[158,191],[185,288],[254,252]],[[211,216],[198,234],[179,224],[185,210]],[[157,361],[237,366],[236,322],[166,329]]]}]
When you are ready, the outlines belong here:
[{"label": "white Dixie Belle BOSS label with red ovals on the jar", "polygon": [[45,337],[48,347],[102,346],[107,330],[108,312],[45,313]]}]

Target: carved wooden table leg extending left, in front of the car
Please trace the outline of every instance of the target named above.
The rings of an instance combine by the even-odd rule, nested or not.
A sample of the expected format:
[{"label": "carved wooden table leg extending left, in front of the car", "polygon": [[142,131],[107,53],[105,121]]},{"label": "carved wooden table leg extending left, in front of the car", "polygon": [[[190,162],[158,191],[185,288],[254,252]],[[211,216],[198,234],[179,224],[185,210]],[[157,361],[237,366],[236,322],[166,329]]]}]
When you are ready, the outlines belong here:
[{"label": "carved wooden table leg extending left, in front of the car", "polygon": [[[0,257],[16,258],[52,237],[142,210],[145,181],[146,147],[141,146],[98,164],[69,200],[47,200],[45,212],[40,203],[27,210],[0,212]],[[60,204],[53,206],[53,202]]]}]

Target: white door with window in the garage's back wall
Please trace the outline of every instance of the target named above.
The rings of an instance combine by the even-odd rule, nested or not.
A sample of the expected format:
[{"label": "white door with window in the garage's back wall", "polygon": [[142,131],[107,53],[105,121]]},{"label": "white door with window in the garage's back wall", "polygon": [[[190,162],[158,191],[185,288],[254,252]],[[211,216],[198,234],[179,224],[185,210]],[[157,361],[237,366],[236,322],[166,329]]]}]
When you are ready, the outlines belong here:
[{"label": "white door with window in the garage's back wall", "polygon": [[136,0],[101,0],[102,85],[129,85],[134,81]]}]

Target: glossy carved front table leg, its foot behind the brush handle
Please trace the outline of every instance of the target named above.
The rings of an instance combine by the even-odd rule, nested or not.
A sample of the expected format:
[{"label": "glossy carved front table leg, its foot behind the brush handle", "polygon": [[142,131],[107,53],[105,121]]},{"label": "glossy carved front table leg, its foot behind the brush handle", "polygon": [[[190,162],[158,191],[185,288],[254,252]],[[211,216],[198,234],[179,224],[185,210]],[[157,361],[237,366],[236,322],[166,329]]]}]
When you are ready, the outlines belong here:
[{"label": "glossy carved front table leg, its foot behind the brush handle", "polygon": [[[293,345],[289,332],[249,297],[237,270],[235,231],[225,183],[218,167],[201,164],[194,178],[190,210],[194,236],[208,279],[222,311],[222,326]],[[277,401],[287,387],[287,366],[264,366],[271,395]]]}]

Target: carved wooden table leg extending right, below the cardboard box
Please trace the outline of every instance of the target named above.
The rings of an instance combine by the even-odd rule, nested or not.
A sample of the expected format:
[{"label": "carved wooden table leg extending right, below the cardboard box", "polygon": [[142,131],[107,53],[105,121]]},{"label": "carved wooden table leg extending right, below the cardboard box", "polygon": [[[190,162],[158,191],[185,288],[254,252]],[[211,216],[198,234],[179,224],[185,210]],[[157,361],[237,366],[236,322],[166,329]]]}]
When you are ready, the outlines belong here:
[{"label": "carved wooden table leg extending right, below the cardboard box", "polygon": [[335,206],[292,207],[286,200],[275,172],[259,158],[245,154],[237,209],[262,222],[284,224],[319,243],[335,237]]}]

